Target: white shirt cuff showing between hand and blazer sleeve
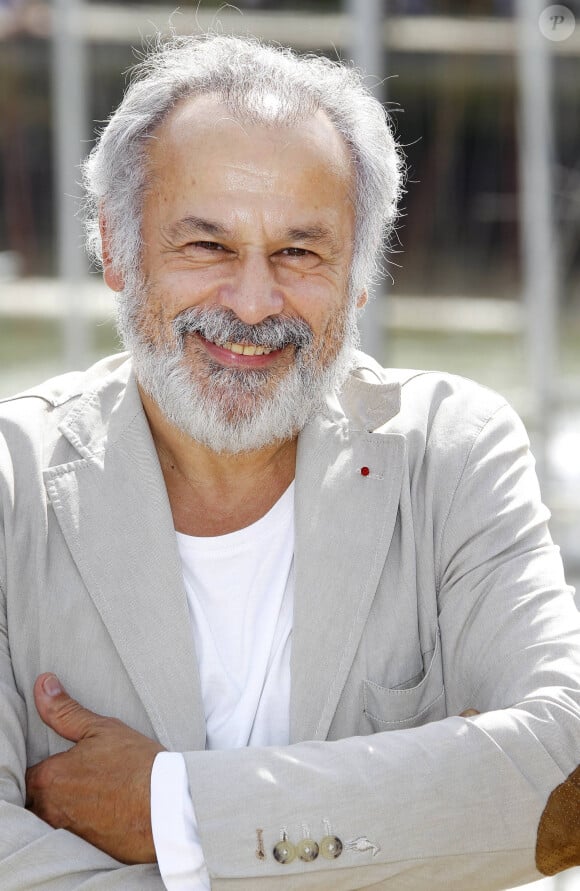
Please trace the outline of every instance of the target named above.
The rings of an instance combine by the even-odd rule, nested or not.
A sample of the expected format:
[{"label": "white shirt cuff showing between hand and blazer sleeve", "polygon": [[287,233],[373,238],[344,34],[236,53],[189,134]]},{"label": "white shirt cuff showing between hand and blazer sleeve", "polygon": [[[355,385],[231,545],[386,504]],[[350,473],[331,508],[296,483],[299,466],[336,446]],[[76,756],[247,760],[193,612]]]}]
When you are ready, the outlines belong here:
[{"label": "white shirt cuff showing between hand and blazer sleeve", "polygon": [[151,827],[167,891],[210,891],[185,761],[160,752],[151,771]]}]

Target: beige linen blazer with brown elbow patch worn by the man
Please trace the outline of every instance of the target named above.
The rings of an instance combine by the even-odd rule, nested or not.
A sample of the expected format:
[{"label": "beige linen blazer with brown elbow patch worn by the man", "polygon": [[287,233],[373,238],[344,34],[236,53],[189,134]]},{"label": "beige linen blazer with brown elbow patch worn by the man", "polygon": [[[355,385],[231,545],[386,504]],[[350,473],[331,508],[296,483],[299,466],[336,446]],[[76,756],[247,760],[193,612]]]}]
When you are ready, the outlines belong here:
[{"label": "beige linen blazer with brown elbow patch worn by the man", "polygon": [[[43,671],[185,753],[213,889],[539,877],[548,796],[580,761],[580,630],[517,417],[475,384],[360,354],[300,435],[295,516],[292,745],[206,752],[130,363],[0,406],[2,891],[163,888],[155,866],[122,866],[24,809],[26,766],[70,745],[36,714]],[[272,855],[281,837],[329,833],[335,859]]]}]

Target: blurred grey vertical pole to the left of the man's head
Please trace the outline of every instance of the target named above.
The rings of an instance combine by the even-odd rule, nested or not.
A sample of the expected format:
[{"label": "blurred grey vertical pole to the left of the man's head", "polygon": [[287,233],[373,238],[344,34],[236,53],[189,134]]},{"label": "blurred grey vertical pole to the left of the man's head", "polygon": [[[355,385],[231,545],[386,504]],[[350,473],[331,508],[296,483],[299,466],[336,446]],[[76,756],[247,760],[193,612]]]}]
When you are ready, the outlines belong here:
[{"label": "blurred grey vertical pole to the left of the man's head", "polygon": [[64,358],[68,368],[88,360],[83,312],[86,258],[79,218],[79,164],[85,154],[86,61],[83,0],[52,3],[52,102],[58,275],[63,289]]}]

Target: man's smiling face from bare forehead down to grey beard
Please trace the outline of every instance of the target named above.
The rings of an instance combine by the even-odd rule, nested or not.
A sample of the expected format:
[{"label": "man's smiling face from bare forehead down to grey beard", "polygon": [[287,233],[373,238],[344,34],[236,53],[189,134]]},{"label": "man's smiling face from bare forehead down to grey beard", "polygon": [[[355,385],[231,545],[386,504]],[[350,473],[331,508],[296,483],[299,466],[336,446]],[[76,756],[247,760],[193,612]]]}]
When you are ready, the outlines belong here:
[{"label": "man's smiling face from bare forehead down to grey beard", "polygon": [[[151,139],[148,183],[145,295],[121,305],[141,385],[208,444],[181,415],[191,421],[213,406],[230,431],[221,449],[213,437],[216,450],[296,432],[307,416],[303,407],[290,422],[290,403],[308,397],[311,414],[321,390],[342,382],[355,339],[353,183],[341,137],[321,112],[274,128],[234,120],[213,97],[188,100]],[[105,278],[116,290],[124,285],[106,262]],[[160,362],[180,378],[171,406]],[[203,408],[183,405],[178,419],[192,388]],[[273,435],[260,413],[282,403],[286,421],[272,417]],[[256,431],[261,424],[261,438],[241,436],[242,422]]]}]

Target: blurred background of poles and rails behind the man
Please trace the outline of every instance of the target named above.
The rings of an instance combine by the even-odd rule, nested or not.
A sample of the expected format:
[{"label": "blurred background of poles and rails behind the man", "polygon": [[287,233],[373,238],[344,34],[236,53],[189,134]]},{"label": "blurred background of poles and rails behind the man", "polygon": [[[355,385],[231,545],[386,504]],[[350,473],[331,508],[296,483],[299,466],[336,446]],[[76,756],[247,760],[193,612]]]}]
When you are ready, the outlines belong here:
[{"label": "blurred background of poles and rails behind the man", "polygon": [[[119,349],[112,295],[82,248],[78,164],[148,38],[214,28],[352,59],[408,166],[364,344],[512,402],[577,584],[580,0],[175,7],[0,0],[0,397]],[[545,887],[580,889],[580,876]]]}]

